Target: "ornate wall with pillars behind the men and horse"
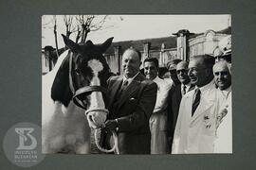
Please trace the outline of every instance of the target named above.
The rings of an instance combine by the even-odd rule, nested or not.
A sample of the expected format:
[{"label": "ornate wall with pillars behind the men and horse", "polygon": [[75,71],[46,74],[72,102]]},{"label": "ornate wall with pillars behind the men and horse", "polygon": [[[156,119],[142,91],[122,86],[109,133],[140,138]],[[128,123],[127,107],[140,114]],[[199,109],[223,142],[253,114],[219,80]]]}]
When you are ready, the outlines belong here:
[{"label": "ornate wall with pillars behind the men and horse", "polygon": [[[117,75],[122,74],[121,54],[129,47],[135,47],[142,54],[141,62],[146,58],[159,60],[159,67],[164,68],[170,59],[190,60],[193,56],[209,54],[214,51],[219,42],[231,34],[231,27],[221,31],[207,30],[204,33],[194,34],[187,29],[181,29],[174,36],[145,39],[137,41],[113,42],[110,48],[103,54],[111,71]],[[46,46],[42,50],[42,72],[49,72],[55,63],[53,48]],[[142,67],[142,65],[141,65]]]}]

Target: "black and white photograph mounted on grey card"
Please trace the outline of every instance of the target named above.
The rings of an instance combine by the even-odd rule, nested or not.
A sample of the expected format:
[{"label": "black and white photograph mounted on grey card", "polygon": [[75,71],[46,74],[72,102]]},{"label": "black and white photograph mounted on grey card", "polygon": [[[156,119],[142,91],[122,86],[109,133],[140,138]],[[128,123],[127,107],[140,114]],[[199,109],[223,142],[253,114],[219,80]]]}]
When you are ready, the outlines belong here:
[{"label": "black and white photograph mounted on grey card", "polygon": [[231,14],[42,15],[43,154],[233,153]]}]

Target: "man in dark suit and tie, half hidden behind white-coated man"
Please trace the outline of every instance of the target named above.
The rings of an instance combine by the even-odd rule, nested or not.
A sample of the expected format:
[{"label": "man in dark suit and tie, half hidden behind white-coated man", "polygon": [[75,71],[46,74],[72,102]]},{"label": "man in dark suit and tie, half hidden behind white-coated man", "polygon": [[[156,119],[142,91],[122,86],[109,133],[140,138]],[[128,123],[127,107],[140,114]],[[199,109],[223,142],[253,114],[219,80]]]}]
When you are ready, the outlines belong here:
[{"label": "man in dark suit and tie, half hidden behind white-coated man", "polygon": [[[170,72],[174,72],[176,74],[177,80],[174,79],[174,84],[169,93],[169,123],[170,123],[170,139],[171,142],[174,137],[174,128],[176,125],[176,120],[179,111],[179,105],[182,96],[185,93],[188,93],[194,88],[194,85],[191,83],[191,79],[188,76],[188,65],[189,63],[185,60],[177,60],[177,63],[174,62],[170,65],[169,68],[173,69]],[[173,76],[175,77],[175,76]]]}]

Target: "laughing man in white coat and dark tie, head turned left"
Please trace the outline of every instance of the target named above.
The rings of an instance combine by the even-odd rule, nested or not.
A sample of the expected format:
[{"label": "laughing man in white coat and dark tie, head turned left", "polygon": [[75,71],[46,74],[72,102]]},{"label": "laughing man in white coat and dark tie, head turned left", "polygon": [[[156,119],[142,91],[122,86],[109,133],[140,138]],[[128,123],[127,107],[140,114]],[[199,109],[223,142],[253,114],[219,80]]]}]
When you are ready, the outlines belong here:
[{"label": "laughing man in white coat and dark tie, head turned left", "polygon": [[195,56],[189,64],[189,76],[195,89],[180,103],[174,130],[172,153],[213,153],[215,139],[216,88],[209,55]]}]

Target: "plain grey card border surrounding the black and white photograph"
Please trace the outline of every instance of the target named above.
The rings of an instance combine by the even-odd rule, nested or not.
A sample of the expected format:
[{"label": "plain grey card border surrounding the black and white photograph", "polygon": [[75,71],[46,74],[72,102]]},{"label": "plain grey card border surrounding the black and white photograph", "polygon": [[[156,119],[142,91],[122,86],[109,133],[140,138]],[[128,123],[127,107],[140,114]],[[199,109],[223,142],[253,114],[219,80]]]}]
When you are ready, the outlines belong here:
[{"label": "plain grey card border surrounding the black and white photograph", "polygon": [[[1,129],[41,125],[41,16],[45,14],[231,14],[233,154],[46,155],[36,169],[254,169],[256,167],[256,2],[9,0],[0,3]],[[1,140],[1,144],[3,140]],[[3,147],[3,144],[2,144]],[[3,153],[1,147],[0,152]],[[19,169],[0,154],[1,167]]]}]

